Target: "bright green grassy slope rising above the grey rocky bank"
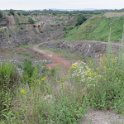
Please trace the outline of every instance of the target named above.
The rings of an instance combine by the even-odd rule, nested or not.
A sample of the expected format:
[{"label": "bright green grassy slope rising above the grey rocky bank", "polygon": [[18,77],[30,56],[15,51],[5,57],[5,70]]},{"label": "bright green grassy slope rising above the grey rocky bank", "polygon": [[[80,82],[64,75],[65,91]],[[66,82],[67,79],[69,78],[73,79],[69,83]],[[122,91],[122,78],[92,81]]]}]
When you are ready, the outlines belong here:
[{"label": "bright green grassy slope rising above the grey rocky bank", "polygon": [[110,24],[112,29],[111,40],[119,41],[122,37],[124,17],[105,18],[103,16],[94,16],[88,19],[84,24],[75,27],[66,34],[66,40],[100,40],[107,41]]}]

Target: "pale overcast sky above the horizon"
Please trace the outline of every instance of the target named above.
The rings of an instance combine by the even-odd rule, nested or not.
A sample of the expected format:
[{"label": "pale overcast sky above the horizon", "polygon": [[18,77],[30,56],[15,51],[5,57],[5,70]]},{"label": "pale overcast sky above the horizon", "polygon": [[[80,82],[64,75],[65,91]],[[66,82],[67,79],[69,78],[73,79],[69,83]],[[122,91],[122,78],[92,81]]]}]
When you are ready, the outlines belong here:
[{"label": "pale overcast sky above the horizon", "polygon": [[0,0],[0,9],[121,9],[124,0]]}]

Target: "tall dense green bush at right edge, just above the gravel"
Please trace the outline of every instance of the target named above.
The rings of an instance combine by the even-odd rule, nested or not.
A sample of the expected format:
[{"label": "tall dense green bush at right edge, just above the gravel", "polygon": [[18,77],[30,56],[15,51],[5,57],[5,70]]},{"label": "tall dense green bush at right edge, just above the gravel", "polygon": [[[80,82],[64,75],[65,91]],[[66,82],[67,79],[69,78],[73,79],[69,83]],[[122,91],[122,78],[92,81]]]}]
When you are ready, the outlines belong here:
[{"label": "tall dense green bush at right edge, just above the gravel", "polygon": [[99,73],[101,81],[89,90],[90,105],[96,109],[124,113],[124,60],[111,55],[104,57]]}]

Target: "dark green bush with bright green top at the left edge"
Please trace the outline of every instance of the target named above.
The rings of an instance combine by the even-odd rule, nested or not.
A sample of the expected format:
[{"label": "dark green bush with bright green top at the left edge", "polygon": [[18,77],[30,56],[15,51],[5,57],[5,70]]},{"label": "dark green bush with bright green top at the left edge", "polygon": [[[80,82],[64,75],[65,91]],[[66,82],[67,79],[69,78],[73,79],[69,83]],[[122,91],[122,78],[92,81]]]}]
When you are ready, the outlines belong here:
[{"label": "dark green bush with bright green top at the left edge", "polygon": [[0,65],[0,119],[8,112],[11,106],[14,90],[19,82],[15,67],[10,63]]}]

